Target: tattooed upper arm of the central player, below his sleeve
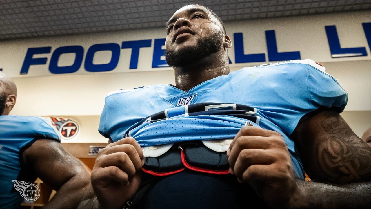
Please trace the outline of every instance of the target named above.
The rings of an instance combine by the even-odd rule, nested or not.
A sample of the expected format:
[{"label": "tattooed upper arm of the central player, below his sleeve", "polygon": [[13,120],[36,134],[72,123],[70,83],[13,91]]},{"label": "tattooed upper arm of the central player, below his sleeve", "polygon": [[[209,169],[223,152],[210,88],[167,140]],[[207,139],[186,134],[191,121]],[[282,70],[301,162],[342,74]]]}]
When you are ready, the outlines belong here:
[{"label": "tattooed upper arm of the central player, below his sleeve", "polygon": [[371,179],[371,147],[335,111],[311,115],[292,134],[312,180],[345,184]]}]

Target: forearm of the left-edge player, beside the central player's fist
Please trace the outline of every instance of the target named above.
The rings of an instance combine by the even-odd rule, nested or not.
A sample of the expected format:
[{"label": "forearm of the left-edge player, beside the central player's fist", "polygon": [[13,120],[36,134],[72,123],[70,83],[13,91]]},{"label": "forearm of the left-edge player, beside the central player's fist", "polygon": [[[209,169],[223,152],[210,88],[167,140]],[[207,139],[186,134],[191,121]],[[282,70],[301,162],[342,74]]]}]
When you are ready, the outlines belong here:
[{"label": "forearm of the left-edge player, beside the central player's fist", "polygon": [[90,181],[81,176],[74,176],[59,188],[44,209],[86,208],[82,205],[91,202],[94,197]]}]

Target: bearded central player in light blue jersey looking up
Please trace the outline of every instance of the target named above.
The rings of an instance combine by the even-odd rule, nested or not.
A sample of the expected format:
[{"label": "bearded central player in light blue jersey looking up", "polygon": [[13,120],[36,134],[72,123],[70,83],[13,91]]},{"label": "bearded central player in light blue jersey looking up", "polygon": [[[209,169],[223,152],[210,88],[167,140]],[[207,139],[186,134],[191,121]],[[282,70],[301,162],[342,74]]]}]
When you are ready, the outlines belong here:
[{"label": "bearded central player in light blue jersey looking up", "polygon": [[[339,115],[348,95],[321,64],[293,60],[230,73],[232,42],[223,22],[197,4],[177,10],[166,30],[176,85],[105,98],[99,132],[111,143],[92,171],[102,206],[122,208],[128,200],[130,208],[370,206],[371,149]],[[233,139],[226,151],[230,174],[194,172],[183,145],[216,139]],[[180,159],[173,155],[177,147],[167,151],[174,143],[189,169],[169,169]],[[164,154],[144,159],[149,151]],[[205,155],[191,157],[215,162]],[[148,159],[172,175],[142,173]],[[304,181],[304,171],[317,182]]]}]

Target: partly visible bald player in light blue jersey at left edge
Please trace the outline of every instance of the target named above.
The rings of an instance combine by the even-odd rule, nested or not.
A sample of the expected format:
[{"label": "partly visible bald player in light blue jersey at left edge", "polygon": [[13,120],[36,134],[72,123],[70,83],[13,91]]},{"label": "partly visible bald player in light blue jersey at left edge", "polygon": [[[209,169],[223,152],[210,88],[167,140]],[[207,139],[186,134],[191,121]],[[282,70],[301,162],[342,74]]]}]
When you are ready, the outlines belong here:
[{"label": "partly visible bald player in light blue jersey at left edge", "polygon": [[16,85],[0,71],[0,208],[36,201],[37,177],[58,191],[45,208],[77,208],[92,196],[89,171],[63,149],[50,117],[9,115],[16,95]]}]

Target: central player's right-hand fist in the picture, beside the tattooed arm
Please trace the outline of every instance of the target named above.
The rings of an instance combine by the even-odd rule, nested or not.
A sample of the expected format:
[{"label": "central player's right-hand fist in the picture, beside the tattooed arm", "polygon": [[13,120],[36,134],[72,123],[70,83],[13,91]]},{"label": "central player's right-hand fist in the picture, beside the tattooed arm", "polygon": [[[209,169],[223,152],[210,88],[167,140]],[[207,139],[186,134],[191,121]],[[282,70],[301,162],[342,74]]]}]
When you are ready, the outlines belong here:
[{"label": "central player's right-hand fist in the picture, beside the tattooed arm", "polygon": [[230,173],[248,183],[273,208],[289,206],[297,184],[283,137],[255,126],[243,127],[227,151]]}]

